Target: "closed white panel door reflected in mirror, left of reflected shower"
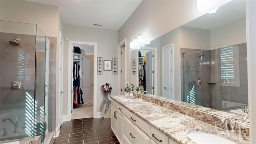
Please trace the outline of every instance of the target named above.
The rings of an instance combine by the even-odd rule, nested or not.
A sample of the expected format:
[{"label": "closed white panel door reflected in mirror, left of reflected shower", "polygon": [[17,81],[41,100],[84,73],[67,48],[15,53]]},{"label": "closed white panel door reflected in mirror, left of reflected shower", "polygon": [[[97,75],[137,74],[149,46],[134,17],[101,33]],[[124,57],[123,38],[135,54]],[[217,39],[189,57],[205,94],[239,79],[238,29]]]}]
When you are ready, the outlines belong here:
[{"label": "closed white panel door reflected in mirror, left of reflected shower", "polygon": [[173,99],[173,44],[163,47],[163,97]]}]

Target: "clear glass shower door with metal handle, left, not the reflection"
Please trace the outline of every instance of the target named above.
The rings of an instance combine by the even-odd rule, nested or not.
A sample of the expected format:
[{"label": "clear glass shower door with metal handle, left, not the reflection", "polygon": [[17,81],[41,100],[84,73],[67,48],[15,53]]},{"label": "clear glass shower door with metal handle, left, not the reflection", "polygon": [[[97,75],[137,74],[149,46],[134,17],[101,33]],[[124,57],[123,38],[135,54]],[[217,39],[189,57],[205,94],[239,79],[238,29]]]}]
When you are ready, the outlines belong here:
[{"label": "clear glass shower door with metal handle, left, not the reflection", "polygon": [[[48,46],[46,35],[36,26],[36,92],[34,108],[34,136],[42,136],[42,142],[48,132],[48,68],[49,61],[46,54]],[[49,50],[48,50],[49,51]]]}]

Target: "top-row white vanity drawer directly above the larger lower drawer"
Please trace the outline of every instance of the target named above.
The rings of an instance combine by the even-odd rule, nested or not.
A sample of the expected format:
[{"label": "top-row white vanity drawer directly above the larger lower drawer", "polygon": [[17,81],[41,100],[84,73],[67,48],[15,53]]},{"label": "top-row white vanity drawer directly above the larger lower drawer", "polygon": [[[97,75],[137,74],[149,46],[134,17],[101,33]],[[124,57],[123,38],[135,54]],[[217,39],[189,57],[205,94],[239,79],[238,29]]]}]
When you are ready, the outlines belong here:
[{"label": "top-row white vanity drawer directly above the larger lower drawer", "polygon": [[145,132],[147,135],[150,135],[150,125],[146,123],[144,120],[127,110],[124,109],[124,115],[136,126],[138,126],[143,132]]}]

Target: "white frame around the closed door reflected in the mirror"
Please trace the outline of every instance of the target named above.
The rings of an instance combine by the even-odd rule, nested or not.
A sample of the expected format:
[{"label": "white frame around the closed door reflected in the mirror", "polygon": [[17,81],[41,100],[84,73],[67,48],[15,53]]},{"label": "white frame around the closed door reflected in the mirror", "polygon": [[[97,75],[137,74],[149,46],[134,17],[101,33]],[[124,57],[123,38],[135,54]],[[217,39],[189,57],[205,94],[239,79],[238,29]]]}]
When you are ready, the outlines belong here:
[{"label": "white frame around the closed door reflected in the mirror", "polygon": [[[174,99],[174,43],[162,47],[162,62],[164,62],[164,48],[172,46],[172,96]],[[162,66],[162,76],[164,76],[164,66]],[[162,77],[162,96],[164,96],[164,77]]]}]

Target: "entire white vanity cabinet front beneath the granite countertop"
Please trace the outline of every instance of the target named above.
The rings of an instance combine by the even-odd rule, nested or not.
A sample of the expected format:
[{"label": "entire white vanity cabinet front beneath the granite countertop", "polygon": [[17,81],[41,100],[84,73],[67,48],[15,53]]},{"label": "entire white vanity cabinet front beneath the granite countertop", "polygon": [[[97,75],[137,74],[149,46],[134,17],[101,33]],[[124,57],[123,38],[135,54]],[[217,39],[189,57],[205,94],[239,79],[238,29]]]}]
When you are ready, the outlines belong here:
[{"label": "entire white vanity cabinet front beneath the granite countertop", "polygon": [[120,144],[177,144],[115,100],[111,105],[111,129]]}]

